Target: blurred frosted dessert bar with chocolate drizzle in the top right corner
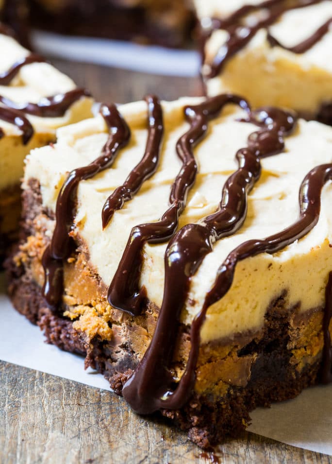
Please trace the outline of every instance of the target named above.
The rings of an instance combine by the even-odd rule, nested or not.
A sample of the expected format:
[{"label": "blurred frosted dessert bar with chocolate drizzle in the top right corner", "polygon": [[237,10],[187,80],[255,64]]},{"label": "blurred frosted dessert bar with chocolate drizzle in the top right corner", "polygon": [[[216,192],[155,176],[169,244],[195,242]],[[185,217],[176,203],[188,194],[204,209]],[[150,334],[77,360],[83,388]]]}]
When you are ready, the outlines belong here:
[{"label": "blurred frosted dessert bar with chocolate drizzle in the top right corner", "polygon": [[332,2],[195,0],[208,95],[293,108],[332,124]]}]

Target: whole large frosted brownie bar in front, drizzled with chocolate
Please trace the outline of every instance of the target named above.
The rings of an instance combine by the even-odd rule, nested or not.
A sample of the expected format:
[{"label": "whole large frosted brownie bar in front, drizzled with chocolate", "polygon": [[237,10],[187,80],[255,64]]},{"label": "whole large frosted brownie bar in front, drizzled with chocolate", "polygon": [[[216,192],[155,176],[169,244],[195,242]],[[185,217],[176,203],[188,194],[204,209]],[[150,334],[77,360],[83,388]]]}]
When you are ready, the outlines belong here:
[{"label": "whole large frosted brownie bar in front, drizzled with chocolate", "polygon": [[27,157],[12,302],[208,447],[331,381],[331,179],[332,128],[284,110],[102,105]]}]

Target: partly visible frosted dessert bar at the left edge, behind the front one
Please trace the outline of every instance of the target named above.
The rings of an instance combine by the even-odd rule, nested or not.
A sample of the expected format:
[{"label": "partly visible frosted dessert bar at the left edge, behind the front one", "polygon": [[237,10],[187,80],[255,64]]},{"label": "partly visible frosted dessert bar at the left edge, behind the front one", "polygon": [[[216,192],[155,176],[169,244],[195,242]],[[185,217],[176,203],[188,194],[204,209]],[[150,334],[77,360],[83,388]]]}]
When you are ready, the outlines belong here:
[{"label": "partly visible frosted dessert bar at the left edge, behind the front one", "polygon": [[[1,25],[0,25],[1,27]],[[17,236],[24,157],[55,130],[92,116],[93,100],[0,29],[0,255]]]}]

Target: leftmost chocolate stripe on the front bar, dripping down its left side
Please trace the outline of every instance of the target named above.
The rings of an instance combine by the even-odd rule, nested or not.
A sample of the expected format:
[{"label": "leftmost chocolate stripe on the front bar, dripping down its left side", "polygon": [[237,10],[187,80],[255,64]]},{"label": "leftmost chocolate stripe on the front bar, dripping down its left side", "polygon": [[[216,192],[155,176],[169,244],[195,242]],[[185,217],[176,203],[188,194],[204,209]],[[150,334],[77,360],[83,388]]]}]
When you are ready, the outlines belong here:
[{"label": "leftmost chocolate stripe on the front bar, dripping down its left side", "polygon": [[72,248],[69,232],[73,227],[78,185],[82,180],[90,179],[111,167],[118,151],[127,145],[131,135],[115,104],[102,105],[100,113],[110,130],[110,136],[98,158],[68,174],[57,198],[53,236],[42,258],[45,273],[43,295],[54,310],[63,293],[63,262],[69,257]]}]

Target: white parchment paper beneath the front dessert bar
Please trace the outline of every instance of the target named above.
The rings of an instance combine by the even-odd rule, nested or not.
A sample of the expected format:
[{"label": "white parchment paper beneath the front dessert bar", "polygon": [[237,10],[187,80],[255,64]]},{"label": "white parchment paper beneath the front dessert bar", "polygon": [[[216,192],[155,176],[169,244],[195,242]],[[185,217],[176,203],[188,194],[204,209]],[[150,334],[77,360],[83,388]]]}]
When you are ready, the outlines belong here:
[{"label": "white parchment paper beneath the front dessert bar", "polygon": [[[17,340],[20,341],[17,344]],[[0,276],[0,359],[109,390],[108,382],[83,358],[44,343],[40,329],[13,309]],[[332,385],[315,387],[297,398],[258,409],[250,431],[288,445],[332,455]]]}]

